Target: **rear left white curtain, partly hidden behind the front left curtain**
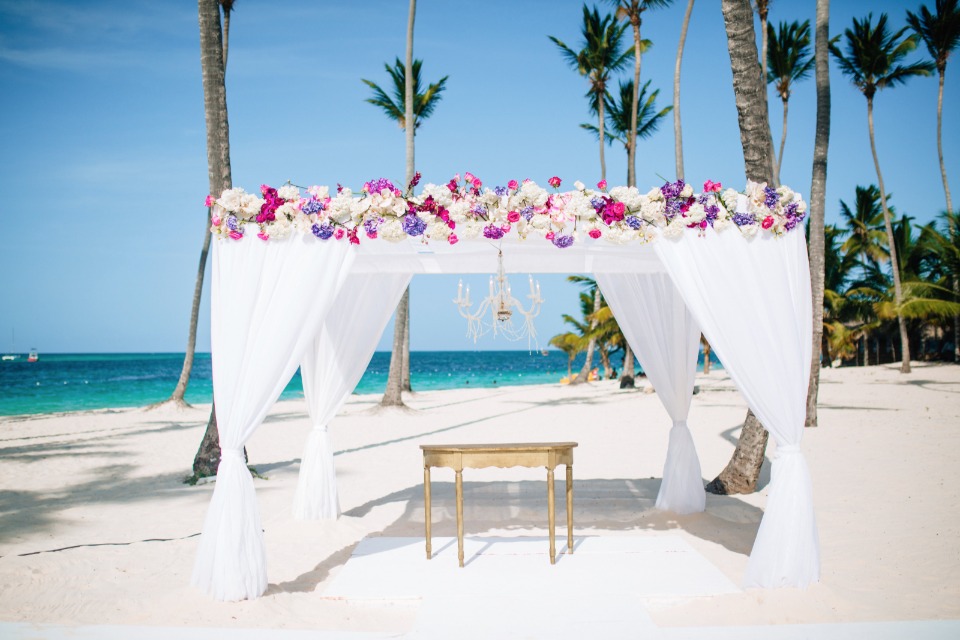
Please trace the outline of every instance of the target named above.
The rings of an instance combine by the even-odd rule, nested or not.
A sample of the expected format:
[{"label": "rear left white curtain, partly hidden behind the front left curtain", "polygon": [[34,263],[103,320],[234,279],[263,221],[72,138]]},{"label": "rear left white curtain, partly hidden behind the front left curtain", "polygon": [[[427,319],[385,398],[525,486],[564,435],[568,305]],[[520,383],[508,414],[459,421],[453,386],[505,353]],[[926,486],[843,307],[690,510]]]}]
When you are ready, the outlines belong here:
[{"label": "rear left white curtain, partly hidden behind the front left curtain", "polygon": [[293,496],[293,516],[298,520],[340,515],[327,423],[363,377],[383,328],[409,283],[409,273],[347,276],[319,334],[303,354],[300,375],[313,429],[307,436]]}]

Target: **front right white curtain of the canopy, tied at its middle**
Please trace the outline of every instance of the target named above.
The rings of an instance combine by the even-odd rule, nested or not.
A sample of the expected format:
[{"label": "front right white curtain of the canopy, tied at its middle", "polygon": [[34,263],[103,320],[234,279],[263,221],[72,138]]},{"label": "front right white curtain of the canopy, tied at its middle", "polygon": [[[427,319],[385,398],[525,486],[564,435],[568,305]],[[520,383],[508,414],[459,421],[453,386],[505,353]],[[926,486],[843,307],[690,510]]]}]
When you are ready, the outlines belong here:
[{"label": "front right white curtain of the canopy, tied at its middle", "polygon": [[735,229],[660,238],[657,255],[724,368],[777,443],[747,587],[820,578],[813,488],[800,451],[811,358],[811,294],[802,230],[745,238]]}]

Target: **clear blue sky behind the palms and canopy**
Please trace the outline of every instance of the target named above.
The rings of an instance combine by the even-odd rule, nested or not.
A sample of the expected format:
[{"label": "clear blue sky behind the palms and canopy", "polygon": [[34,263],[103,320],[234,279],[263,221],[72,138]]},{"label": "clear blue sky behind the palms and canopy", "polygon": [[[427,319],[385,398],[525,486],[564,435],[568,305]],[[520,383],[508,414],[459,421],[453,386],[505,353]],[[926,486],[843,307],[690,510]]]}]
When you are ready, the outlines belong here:
[{"label": "clear blue sky behind the palms and canopy", "polygon": [[[487,185],[525,177],[543,184],[552,175],[566,184],[599,179],[597,143],[578,126],[589,121],[585,81],[547,39],[579,44],[580,2],[417,4],[414,54],[424,60],[425,79],[450,76],[417,136],[426,181],[464,171]],[[671,101],[685,4],[650,12],[643,24],[653,48],[643,57],[641,82],[661,90],[660,106]],[[889,13],[899,27],[905,10],[919,4],[877,0],[870,10]],[[814,5],[777,0],[771,21],[812,22]],[[832,33],[868,10],[853,0],[831,5]],[[371,178],[402,178],[403,133],[364,102],[369,90],[360,78],[388,81],[383,64],[404,55],[406,12],[400,0],[237,2],[227,69],[234,185],[255,190],[291,180],[359,188]],[[946,114],[960,104],[957,64],[947,67]],[[836,68],[831,83],[828,222],[837,220],[840,199],[852,201],[856,185],[876,181],[865,101]],[[921,222],[945,207],[936,90],[935,77],[914,79],[881,92],[875,107],[892,202]],[[687,179],[742,188],[717,2],[694,8],[681,91]],[[779,142],[781,106],[770,95]],[[781,172],[784,184],[804,194],[814,115],[811,79],[790,101]],[[0,135],[0,351],[182,351],[208,190],[196,3],[0,0]],[[956,117],[946,116],[943,135],[948,176],[960,194]],[[674,167],[671,120],[640,144],[639,186],[672,179]],[[626,154],[616,144],[607,150],[607,171],[611,185],[625,182]],[[525,347],[468,341],[450,302],[457,280],[414,279],[414,349]],[[545,341],[564,330],[560,314],[576,312],[577,289],[559,275],[540,280]],[[483,278],[472,281],[480,286]],[[206,299],[198,349],[209,349]]]}]

